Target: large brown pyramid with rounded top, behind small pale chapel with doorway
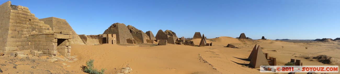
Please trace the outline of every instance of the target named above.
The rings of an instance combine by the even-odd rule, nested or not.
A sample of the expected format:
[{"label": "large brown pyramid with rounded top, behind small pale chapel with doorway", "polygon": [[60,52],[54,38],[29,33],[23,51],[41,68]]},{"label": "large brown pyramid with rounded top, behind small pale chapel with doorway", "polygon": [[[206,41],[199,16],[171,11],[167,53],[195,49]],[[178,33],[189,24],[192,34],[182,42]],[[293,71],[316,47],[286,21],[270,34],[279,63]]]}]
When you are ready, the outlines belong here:
[{"label": "large brown pyramid with rounded top, behind small pale chapel with doorway", "polygon": [[108,29],[104,31],[103,34],[116,34],[117,36],[117,43],[118,44],[125,44],[126,39],[134,39],[125,24],[123,23],[114,23]]}]

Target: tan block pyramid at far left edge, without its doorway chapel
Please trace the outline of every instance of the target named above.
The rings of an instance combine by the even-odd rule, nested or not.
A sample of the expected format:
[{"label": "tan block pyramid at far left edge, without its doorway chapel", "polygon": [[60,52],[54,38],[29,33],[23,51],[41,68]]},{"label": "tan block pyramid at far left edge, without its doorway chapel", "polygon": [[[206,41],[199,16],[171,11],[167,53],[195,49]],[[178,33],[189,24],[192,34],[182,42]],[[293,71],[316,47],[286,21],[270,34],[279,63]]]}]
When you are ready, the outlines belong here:
[{"label": "tan block pyramid at far left edge, without its doorway chapel", "polygon": [[0,5],[0,52],[5,55],[29,50],[28,35],[31,32],[51,32],[49,25],[39,21],[28,7],[12,5],[7,1]]}]

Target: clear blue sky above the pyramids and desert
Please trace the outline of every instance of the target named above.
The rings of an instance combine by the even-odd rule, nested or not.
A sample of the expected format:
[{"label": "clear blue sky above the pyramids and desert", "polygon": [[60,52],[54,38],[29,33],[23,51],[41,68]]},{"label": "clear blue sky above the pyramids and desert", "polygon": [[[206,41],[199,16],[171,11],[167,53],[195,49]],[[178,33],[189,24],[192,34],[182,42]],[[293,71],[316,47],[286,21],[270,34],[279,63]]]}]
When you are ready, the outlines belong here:
[{"label": "clear blue sky above the pyramids and desert", "polygon": [[[7,0],[0,0],[1,3]],[[36,17],[66,19],[78,34],[102,34],[111,24],[143,32],[171,30],[192,38],[317,39],[340,37],[340,0],[12,0]]]}]

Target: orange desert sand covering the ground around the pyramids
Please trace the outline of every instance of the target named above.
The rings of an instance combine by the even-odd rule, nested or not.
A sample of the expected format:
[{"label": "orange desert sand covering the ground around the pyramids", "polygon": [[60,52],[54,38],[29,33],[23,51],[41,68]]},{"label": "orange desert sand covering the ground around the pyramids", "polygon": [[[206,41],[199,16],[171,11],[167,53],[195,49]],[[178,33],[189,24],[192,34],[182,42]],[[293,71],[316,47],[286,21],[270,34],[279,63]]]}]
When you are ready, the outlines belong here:
[{"label": "orange desert sand covering the ground around the pyramids", "polygon": [[[199,44],[200,39],[193,40]],[[85,65],[89,59],[94,59],[95,68],[106,68],[105,74],[117,74],[121,68],[130,66],[132,73],[129,74],[259,74],[258,69],[243,67],[249,64],[249,61],[243,60],[248,58],[254,45],[260,45],[264,53],[269,53],[270,57],[275,57],[277,65],[282,66],[290,59],[300,59],[304,66],[339,66],[339,61],[330,64],[323,64],[315,59],[305,59],[303,56],[327,55],[335,59],[340,59],[340,43],[330,42],[312,42],[312,43],[290,43],[276,40],[248,40],[236,39],[232,37],[218,37],[207,39],[207,42],[213,43],[213,46],[193,47],[188,45],[160,45],[152,44],[102,44],[102,45],[79,45],[72,44],[71,56],[77,56],[79,59],[73,62],[48,62],[37,66],[37,69],[23,69],[28,67],[30,61],[17,61],[16,64],[22,63],[23,66],[17,66],[13,69],[12,64],[3,63],[6,60],[0,60],[4,74],[7,73],[72,73],[86,74],[82,72],[81,66]],[[227,44],[234,44],[241,49],[226,48]],[[282,48],[284,46],[284,48]],[[308,49],[305,49],[308,47]],[[17,58],[17,59],[33,59]],[[46,57],[41,57],[46,58]],[[39,58],[38,58],[39,59]],[[43,60],[43,59],[42,59]],[[7,62],[9,62],[8,60]],[[207,62],[204,62],[207,61]],[[63,65],[66,63],[67,65]],[[54,64],[54,66],[53,66]],[[34,64],[31,64],[34,65]],[[45,69],[53,66],[53,69]],[[69,66],[69,67],[67,67]],[[57,69],[54,69],[56,67]],[[52,68],[52,67],[51,67]],[[20,70],[19,70],[20,69]],[[272,74],[272,73],[268,73]],[[281,74],[281,73],[280,73]],[[286,73],[282,73],[286,74]],[[305,73],[299,73],[305,74]]]}]

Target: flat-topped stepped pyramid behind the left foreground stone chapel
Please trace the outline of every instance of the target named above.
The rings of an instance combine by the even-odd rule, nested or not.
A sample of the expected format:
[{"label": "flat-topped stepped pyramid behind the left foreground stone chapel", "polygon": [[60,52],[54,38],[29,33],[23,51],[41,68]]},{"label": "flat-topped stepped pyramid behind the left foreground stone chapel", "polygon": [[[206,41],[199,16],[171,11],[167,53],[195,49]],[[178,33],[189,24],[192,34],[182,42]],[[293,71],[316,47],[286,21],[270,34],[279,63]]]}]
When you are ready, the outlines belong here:
[{"label": "flat-topped stepped pyramid behind the left foreground stone chapel", "polygon": [[39,21],[44,21],[45,24],[50,25],[52,31],[68,31],[72,32],[71,43],[72,44],[84,44],[82,39],[78,36],[77,33],[72,29],[70,24],[65,19],[56,18],[56,17],[49,17],[39,19]]}]

